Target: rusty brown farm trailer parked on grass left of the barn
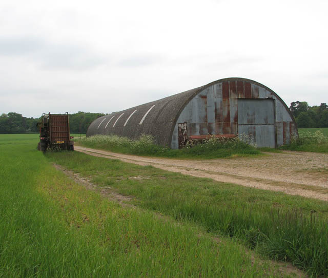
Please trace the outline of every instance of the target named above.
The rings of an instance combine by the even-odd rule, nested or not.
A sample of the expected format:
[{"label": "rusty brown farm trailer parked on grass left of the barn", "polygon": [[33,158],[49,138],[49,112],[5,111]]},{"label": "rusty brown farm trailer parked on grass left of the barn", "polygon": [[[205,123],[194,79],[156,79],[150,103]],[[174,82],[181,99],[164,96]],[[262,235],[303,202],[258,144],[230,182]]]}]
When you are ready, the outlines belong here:
[{"label": "rusty brown farm trailer parked on grass left of the barn", "polygon": [[65,114],[42,114],[40,122],[36,124],[40,132],[38,150],[74,150],[71,141],[68,112]]}]

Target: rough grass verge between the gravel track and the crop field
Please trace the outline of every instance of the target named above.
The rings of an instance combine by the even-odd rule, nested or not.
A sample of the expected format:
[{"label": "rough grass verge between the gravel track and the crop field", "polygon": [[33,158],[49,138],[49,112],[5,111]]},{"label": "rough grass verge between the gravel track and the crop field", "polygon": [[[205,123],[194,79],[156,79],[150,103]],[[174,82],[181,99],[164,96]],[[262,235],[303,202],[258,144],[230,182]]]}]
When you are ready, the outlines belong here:
[{"label": "rough grass verge between the gravel track and the crop field", "polygon": [[[136,197],[135,204],[239,239],[312,276],[328,275],[328,204],[93,157],[47,153],[50,160]],[[135,176],[139,176],[136,180]]]}]

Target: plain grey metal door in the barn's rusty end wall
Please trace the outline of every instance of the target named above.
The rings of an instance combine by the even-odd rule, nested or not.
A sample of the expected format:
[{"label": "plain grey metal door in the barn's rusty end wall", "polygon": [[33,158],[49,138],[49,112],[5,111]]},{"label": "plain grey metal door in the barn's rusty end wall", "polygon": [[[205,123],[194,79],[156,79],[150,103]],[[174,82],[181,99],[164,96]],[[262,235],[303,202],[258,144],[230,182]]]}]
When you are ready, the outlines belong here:
[{"label": "plain grey metal door in the barn's rusty end wall", "polygon": [[238,99],[238,134],[247,134],[257,147],[276,147],[275,109],[272,98]]}]

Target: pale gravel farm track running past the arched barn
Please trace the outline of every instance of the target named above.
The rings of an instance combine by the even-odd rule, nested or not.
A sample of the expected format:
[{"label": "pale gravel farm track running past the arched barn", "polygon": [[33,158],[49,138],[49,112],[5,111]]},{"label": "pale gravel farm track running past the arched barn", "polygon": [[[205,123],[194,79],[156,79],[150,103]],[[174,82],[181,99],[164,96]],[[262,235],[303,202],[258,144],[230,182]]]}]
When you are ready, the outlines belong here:
[{"label": "pale gravel farm track running past the arched barn", "polygon": [[328,201],[328,154],[324,153],[283,151],[265,153],[258,157],[176,160],[113,153],[80,146],[75,146],[74,149],[94,156],[208,177],[219,182]]}]

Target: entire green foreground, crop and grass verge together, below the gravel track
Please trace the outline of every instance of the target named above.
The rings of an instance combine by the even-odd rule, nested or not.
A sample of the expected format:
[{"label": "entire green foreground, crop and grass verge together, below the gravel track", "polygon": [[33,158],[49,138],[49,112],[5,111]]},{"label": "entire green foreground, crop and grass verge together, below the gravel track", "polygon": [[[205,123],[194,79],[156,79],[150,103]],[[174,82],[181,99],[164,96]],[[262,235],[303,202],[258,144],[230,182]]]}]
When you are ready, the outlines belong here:
[{"label": "entire green foreground, crop and grass verge together, below the gravel track", "polygon": [[327,202],[44,154],[37,137],[0,135],[0,277],[328,275]]}]

